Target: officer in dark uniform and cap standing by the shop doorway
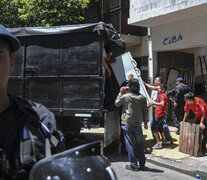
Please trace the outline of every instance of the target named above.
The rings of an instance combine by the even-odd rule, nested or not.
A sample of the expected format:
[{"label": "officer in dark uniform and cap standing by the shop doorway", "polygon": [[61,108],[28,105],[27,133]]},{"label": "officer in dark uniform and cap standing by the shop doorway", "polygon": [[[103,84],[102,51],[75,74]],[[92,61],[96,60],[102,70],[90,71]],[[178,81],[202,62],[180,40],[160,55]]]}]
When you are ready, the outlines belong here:
[{"label": "officer in dark uniform and cap standing by the shop doorway", "polygon": [[176,87],[171,91],[174,94],[173,97],[173,110],[172,119],[177,128],[176,134],[180,131],[180,121],[184,116],[185,100],[184,95],[190,91],[190,87],[183,83],[183,78],[179,77],[176,79]]}]

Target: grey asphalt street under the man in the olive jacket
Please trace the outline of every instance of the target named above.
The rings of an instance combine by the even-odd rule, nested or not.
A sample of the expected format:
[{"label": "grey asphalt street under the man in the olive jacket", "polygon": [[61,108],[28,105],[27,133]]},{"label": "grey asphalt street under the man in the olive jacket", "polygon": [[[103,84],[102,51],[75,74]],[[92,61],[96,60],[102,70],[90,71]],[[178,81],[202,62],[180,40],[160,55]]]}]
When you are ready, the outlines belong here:
[{"label": "grey asphalt street under the man in the olive jacket", "polygon": [[133,172],[125,169],[128,163],[126,155],[110,155],[108,159],[117,175],[118,180],[193,180],[194,177],[173,171],[158,165],[146,163],[145,171]]}]

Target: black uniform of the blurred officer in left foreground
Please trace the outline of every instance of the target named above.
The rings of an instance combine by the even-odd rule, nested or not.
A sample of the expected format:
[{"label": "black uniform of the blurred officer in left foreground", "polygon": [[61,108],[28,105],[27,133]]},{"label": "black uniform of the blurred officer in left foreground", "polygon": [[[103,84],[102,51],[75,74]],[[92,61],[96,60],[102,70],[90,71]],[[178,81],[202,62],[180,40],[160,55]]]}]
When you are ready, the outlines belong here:
[{"label": "black uniform of the blurred officer in left foreground", "polygon": [[56,120],[53,113],[41,104],[14,96],[9,99],[9,107],[0,113],[0,179],[24,180],[28,179],[34,163],[45,157],[43,136],[46,132],[41,123],[52,134],[56,131]]}]

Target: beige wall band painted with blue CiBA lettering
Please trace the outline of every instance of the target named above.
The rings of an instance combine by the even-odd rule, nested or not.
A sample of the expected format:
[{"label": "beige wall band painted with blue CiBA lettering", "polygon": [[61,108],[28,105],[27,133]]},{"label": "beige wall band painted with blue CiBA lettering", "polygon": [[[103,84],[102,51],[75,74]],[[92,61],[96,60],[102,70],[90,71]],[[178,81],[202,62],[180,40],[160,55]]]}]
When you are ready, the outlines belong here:
[{"label": "beige wall band painted with blue CiBA lettering", "polygon": [[154,51],[207,46],[207,16],[152,28]]}]

